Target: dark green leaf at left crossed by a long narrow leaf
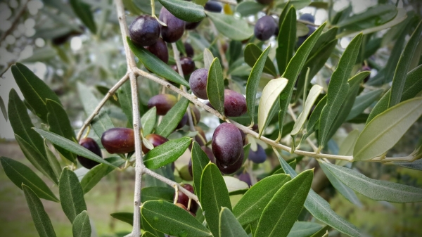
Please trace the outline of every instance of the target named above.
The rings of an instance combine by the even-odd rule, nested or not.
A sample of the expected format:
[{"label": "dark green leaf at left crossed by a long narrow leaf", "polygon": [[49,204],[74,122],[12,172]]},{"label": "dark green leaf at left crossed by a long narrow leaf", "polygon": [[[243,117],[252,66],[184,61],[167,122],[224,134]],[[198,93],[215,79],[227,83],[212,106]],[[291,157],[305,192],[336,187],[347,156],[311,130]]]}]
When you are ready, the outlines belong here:
[{"label": "dark green leaf at left crossed by a long narrow leaf", "polygon": [[[56,101],[51,101],[50,99],[47,99],[46,105],[47,110],[49,110],[49,113],[47,114],[47,121],[49,122],[50,132],[63,136],[69,140],[76,140],[75,132],[70,125],[68,113],[66,113],[63,106]],[[76,162],[75,155],[68,152],[68,150],[60,147],[56,147],[56,149],[63,155],[64,158],[70,160],[70,162]]]}]

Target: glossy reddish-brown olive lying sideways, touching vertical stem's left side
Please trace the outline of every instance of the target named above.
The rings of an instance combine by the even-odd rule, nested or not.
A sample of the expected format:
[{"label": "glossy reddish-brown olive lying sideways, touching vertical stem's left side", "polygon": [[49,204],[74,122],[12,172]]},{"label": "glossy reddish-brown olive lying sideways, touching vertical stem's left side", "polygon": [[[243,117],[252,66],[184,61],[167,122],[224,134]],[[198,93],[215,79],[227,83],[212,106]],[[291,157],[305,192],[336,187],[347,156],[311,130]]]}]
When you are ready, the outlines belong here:
[{"label": "glossy reddish-brown olive lying sideways, touching vertical stem's left side", "polygon": [[108,153],[124,154],[135,150],[134,129],[115,127],[101,136],[101,143]]}]

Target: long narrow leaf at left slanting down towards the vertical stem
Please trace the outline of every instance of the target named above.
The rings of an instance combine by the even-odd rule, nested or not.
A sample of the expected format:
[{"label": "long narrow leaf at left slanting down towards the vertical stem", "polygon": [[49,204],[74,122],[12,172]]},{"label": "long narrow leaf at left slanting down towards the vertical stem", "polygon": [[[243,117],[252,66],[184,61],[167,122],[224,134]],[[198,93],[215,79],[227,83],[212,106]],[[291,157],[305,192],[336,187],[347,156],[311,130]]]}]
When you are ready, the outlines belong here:
[{"label": "long narrow leaf at left slanting down towards the vertical stem", "polygon": [[47,140],[51,141],[51,143],[56,144],[57,146],[60,146],[62,148],[65,148],[66,150],[69,150],[72,153],[75,153],[77,155],[81,155],[84,158],[88,158],[89,160],[94,160],[101,164],[106,164],[110,167],[117,167],[107,160],[104,160],[103,158],[99,157],[95,153],[91,152],[91,150],[88,150],[87,148],[84,148],[83,146],[80,146],[78,143],[75,143],[74,141],[70,141],[68,139],[63,138],[63,136],[58,136],[57,134],[54,134],[52,132],[47,132],[42,129],[34,128],[36,132],[41,134],[41,136],[44,136]]}]

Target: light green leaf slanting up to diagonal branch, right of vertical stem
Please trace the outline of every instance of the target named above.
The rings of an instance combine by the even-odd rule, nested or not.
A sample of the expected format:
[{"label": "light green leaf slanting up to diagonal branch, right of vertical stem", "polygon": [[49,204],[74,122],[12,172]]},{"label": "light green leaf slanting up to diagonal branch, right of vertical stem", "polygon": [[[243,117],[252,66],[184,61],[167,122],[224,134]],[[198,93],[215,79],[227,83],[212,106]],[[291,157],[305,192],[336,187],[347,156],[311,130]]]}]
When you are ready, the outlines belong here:
[{"label": "light green leaf slanting up to diagonal branch, right of vertical stem", "polygon": [[186,113],[186,109],[188,108],[189,101],[187,98],[182,97],[168,112],[167,114],[162,117],[161,123],[155,129],[155,133],[167,137],[179,124],[181,118]]}]

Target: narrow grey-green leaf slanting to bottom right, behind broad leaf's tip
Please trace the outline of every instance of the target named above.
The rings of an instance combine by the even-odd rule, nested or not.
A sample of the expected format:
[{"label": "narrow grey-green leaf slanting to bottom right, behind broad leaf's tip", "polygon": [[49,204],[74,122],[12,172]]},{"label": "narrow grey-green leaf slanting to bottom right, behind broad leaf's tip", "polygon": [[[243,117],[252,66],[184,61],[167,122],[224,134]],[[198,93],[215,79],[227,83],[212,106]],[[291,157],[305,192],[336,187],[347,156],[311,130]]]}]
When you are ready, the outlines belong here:
[{"label": "narrow grey-green leaf slanting to bottom right, behind broad leaf's tip", "polygon": [[[274,150],[274,153],[276,153],[279,158],[281,167],[283,167],[286,174],[290,174],[291,177],[296,177],[298,174],[296,174],[295,170],[290,167],[283,158],[281,158],[279,152]],[[308,193],[304,206],[316,219],[328,224],[328,226],[332,226],[341,233],[346,233],[349,236],[362,236],[356,226],[347,222],[346,219],[343,219],[343,217],[340,217],[337,213],[335,213],[331,209],[330,204],[327,203],[324,198],[321,198],[321,196],[316,194],[312,189]]]}]

